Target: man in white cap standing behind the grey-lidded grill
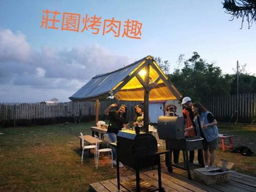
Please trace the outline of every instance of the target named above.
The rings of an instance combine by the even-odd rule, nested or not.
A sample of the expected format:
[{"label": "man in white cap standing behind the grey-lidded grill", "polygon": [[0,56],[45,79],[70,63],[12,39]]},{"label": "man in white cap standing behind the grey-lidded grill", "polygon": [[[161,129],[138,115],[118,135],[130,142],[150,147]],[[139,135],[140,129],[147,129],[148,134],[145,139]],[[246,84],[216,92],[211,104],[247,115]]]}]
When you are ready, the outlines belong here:
[{"label": "man in white cap standing behind the grey-lidded grill", "polygon": [[[194,125],[194,113],[192,112],[192,100],[190,97],[184,97],[182,99],[182,106],[184,106],[184,109],[182,110],[183,118],[185,121],[185,128],[190,127],[191,125]],[[196,130],[191,130],[186,132],[186,135],[188,137],[194,137],[197,135]],[[189,162],[193,163],[195,157],[195,151],[189,151]],[[202,166],[204,166],[204,159],[203,159],[203,151],[198,150],[198,163]]]}]

